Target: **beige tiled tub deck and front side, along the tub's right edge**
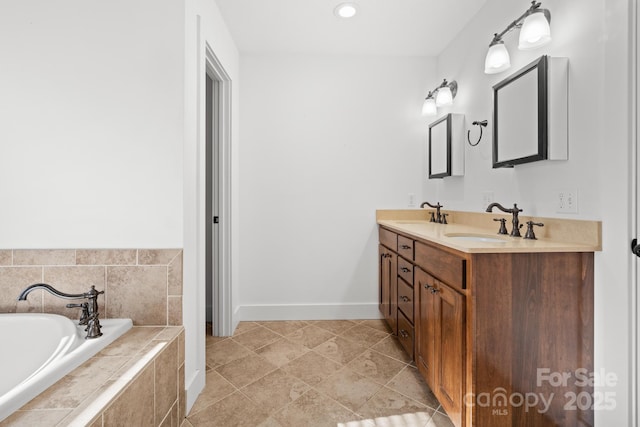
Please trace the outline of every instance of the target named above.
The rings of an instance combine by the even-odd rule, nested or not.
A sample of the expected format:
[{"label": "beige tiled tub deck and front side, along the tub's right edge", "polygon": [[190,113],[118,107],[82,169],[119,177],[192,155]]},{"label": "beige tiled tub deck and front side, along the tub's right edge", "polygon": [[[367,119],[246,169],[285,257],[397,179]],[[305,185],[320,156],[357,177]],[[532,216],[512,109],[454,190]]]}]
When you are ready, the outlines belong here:
[{"label": "beige tiled tub deck and front side, along the tub's right edge", "polygon": [[[164,347],[131,379],[145,354]],[[105,394],[115,397],[95,405]],[[87,412],[85,412],[87,411]],[[179,426],[185,417],[184,329],[134,327],[69,375],[0,422],[6,426],[67,426],[86,415],[90,426]]]}]

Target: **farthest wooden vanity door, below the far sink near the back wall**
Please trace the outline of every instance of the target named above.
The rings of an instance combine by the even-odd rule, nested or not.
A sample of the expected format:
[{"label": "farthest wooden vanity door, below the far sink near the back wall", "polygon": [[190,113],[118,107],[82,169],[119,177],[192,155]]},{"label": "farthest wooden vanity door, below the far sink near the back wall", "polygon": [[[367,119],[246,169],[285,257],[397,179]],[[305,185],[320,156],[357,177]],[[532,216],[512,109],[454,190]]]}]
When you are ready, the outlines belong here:
[{"label": "farthest wooden vanity door, below the far sink near the back wall", "polygon": [[379,255],[379,307],[394,334],[398,323],[398,267],[397,256],[378,245]]}]

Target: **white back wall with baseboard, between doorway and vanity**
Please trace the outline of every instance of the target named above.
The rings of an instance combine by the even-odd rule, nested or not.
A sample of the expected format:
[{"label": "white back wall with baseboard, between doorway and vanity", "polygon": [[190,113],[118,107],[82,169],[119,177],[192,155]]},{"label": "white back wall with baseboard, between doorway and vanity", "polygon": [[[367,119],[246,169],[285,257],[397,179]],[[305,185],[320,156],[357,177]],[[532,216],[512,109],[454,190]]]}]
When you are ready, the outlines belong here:
[{"label": "white back wall with baseboard, between doorway and vanity", "polygon": [[375,210],[420,203],[434,61],[243,54],[240,317],[378,317]]}]

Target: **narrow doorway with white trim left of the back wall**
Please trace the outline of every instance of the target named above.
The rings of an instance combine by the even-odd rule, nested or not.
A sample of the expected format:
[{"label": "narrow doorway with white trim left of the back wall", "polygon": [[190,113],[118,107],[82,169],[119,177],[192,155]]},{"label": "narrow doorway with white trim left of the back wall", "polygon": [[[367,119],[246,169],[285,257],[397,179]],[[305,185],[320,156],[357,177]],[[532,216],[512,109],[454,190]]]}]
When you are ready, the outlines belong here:
[{"label": "narrow doorway with white trim left of the back wall", "polygon": [[[208,335],[231,335],[231,79],[207,45],[204,84],[204,282]],[[202,294],[201,294],[202,295]]]}]

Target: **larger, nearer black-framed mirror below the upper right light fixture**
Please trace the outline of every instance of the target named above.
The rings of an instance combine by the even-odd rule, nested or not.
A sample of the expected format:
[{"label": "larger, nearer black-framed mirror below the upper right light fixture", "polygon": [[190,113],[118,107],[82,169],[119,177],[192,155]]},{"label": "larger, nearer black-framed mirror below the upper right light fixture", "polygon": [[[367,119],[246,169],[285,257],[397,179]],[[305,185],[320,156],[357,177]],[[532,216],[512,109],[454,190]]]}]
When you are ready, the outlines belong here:
[{"label": "larger, nearer black-framed mirror below the upper right light fixture", "polygon": [[493,87],[493,167],[547,159],[547,68],[541,56]]}]

